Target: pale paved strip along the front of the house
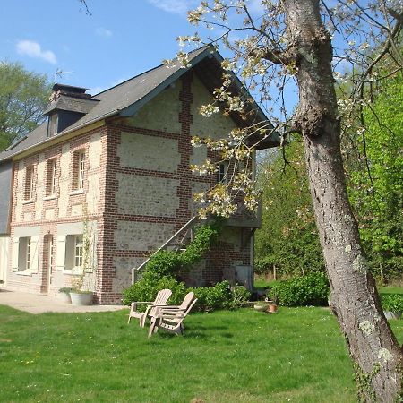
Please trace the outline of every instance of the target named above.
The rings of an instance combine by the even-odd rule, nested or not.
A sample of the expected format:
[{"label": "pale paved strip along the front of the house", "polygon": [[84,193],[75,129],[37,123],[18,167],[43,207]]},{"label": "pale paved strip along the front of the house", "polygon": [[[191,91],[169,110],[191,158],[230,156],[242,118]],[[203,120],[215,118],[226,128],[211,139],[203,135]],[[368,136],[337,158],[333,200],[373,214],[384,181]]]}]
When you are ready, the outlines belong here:
[{"label": "pale paved strip along the front of the house", "polygon": [[107,312],[128,309],[124,305],[88,305],[78,306],[72,304],[64,304],[55,296],[47,296],[46,294],[30,294],[21,291],[10,291],[6,288],[0,288],[0,305],[8,305],[12,308],[26,311],[29,313],[45,313],[45,312]]}]

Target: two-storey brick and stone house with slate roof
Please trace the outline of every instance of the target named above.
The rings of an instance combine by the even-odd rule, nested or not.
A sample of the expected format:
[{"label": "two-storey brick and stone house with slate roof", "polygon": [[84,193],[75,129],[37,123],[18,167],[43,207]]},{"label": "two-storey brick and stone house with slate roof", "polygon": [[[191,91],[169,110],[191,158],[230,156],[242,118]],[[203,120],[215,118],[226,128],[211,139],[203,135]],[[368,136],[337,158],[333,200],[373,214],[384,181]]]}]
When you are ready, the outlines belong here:
[{"label": "two-storey brick and stone house with slate roof", "polygon": [[[202,47],[189,60],[188,68],[162,64],[95,96],[55,84],[47,122],[0,153],[5,287],[53,294],[84,267],[97,301],[116,303],[133,268],[192,219],[192,194],[217,183],[191,172],[190,164],[216,157],[193,149],[192,136],[223,137],[266,117],[259,107],[247,121],[236,113],[201,116],[220,85],[222,58]],[[247,95],[239,81],[233,90]],[[277,144],[268,136],[260,148]],[[251,265],[259,225],[229,220],[190,283],[207,285]]]}]

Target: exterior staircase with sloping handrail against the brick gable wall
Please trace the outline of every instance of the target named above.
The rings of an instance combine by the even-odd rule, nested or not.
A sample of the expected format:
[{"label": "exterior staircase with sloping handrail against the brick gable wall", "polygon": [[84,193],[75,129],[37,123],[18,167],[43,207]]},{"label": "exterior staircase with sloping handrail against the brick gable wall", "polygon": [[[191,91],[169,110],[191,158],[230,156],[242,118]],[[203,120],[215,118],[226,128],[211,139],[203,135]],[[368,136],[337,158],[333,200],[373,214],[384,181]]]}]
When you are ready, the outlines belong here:
[{"label": "exterior staircase with sloping handrail against the brick gable wall", "polygon": [[150,261],[151,257],[154,256],[159,251],[170,250],[170,251],[184,251],[185,244],[190,240],[193,240],[193,228],[199,223],[201,219],[199,216],[193,216],[192,219],[184,224],[184,227],[180,228],[176,233],[171,236],[165,244],[159,246],[159,249],[152,253],[144,262],[141,263],[139,267],[134,267],[132,269],[132,284],[138,281],[141,271],[144,270],[147,263]]}]

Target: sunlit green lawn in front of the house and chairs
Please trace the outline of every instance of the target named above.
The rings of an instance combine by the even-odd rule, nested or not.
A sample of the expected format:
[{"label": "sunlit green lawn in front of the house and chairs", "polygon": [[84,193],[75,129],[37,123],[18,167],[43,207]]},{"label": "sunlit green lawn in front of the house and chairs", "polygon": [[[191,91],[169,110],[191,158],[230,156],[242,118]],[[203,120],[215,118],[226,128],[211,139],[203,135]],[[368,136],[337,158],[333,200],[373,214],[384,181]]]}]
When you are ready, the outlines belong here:
[{"label": "sunlit green lawn in front of the house and chairs", "polygon": [[[0,305],[1,401],[356,401],[328,309],[192,313],[184,337],[152,339],[125,314],[32,315]],[[401,342],[402,322],[390,322]]]}]

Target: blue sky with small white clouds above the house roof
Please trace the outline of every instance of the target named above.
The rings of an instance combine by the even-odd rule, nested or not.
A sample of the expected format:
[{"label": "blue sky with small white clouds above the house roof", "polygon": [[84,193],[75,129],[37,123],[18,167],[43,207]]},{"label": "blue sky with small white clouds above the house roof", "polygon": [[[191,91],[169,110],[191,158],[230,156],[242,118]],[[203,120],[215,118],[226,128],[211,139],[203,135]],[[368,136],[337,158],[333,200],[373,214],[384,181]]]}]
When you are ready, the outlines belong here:
[{"label": "blue sky with small white clouds above the house roof", "polygon": [[[95,94],[176,55],[197,0],[0,0],[0,60]],[[199,30],[201,31],[201,30]]]}]

